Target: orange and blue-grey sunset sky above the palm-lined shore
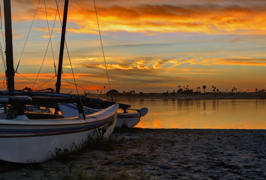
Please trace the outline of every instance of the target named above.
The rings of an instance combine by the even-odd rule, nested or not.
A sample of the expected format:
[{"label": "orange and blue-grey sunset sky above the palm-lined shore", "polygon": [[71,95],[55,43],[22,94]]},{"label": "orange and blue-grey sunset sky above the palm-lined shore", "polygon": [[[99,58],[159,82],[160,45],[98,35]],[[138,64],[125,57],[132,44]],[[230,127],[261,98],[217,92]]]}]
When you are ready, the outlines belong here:
[{"label": "orange and blue-grey sunset sky above the palm-lined shore", "polygon": [[[63,19],[64,1],[58,2]],[[95,2],[111,89],[137,93],[171,92],[178,85],[189,85],[194,90],[198,86],[203,90],[206,85],[207,92],[212,91],[212,85],[220,91],[231,91],[233,87],[237,91],[266,89],[266,1]],[[54,61],[56,71],[58,68],[61,24],[56,1],[38,3],[39,0],[11,1],[15,69],[21,57],[15,89],[33,87],[21,75],[34,82],[43,60],[37,85],[55,76]],[[0,5],[4,34],[3,1]],[[51,44],[48,46],[49,32],[53,55]],[[110,90],[94,1],[69,2],[65,40],[76,83],[95,93],[97,89],[104,93],[104,86],[105,91]],[[4,49],[3,38],[0,42]],[[66,48],[62,78],[74,82]],[[1,90],[5,90],[4,78],[1,80]],[[43,88],[54,88],[55,82],[56,77]],[[62,80],[61,92],[76,92],[75,89]],[[79,88],[79,92],[84,89]]]}]

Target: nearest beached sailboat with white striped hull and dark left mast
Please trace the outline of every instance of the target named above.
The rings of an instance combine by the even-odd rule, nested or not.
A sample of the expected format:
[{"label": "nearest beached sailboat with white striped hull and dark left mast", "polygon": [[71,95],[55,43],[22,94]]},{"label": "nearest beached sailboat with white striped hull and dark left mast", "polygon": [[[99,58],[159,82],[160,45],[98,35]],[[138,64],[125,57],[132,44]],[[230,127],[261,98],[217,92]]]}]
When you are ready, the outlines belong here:
[{"label": "nearest beached sailboat with white striped hull and dark left mast", "polygon": [[[64,15],[67,5],[68,0],[65,1]],[[9,0],[4,0],[4,13],[8,90],[0,91],[0,103],[4,107],[9,106],[9,109],[4,110],[9,113],[9,116],[6,119],[0,119],[0,160],[42,163],[60,153],[79,150],[88,143],[89,138],[96,138],[99,134],[110,136],[116,124],[118,104],[94,114],[85,115],[82,104],[92,101],[90,98],[54,91],[15,90]],[[61,37],[61,42],[62,38],[64,41],[64,37]],[[26,105],[41,104],[46,107],[52,103],[76,103],[78,114],[73,118],[56,119],[54,116],[43,118],[41,115],[39,118],[29,119],[25,114]]]}]

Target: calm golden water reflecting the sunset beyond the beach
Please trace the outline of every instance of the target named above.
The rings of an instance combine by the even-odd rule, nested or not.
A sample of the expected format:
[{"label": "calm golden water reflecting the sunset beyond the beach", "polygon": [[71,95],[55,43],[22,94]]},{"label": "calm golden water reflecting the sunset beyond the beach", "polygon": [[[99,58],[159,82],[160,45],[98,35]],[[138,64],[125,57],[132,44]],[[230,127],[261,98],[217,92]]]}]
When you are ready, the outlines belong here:
[{"label": "calm golden water reflecting the sunset beyond the beach", "polygon": [[147,107],[136,127],[266,129],[266,99],[123,99],[133,109]]}]

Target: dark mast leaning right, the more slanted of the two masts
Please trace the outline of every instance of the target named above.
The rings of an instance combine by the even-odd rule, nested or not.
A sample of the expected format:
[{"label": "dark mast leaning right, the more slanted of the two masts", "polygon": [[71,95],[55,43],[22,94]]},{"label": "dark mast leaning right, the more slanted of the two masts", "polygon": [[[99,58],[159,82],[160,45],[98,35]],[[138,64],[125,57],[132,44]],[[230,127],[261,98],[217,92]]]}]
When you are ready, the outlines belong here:
[{"label": "dark mast leaning right, the more slanted of the two masts", "polygon": [[57,71],[57,81],[55,84],[55,86],[56,86],[55,92],[57,92],[57,93],[60,92],[60,86],[61,86],[61,74],[62,74],[64,46],[65,46],[65,28],[66,28],[67,15],[68,15],[68,0],[65,0],[61,44],[60,44],[60,52],[59,52],[59,62],[58,62],[58,71]]}]

